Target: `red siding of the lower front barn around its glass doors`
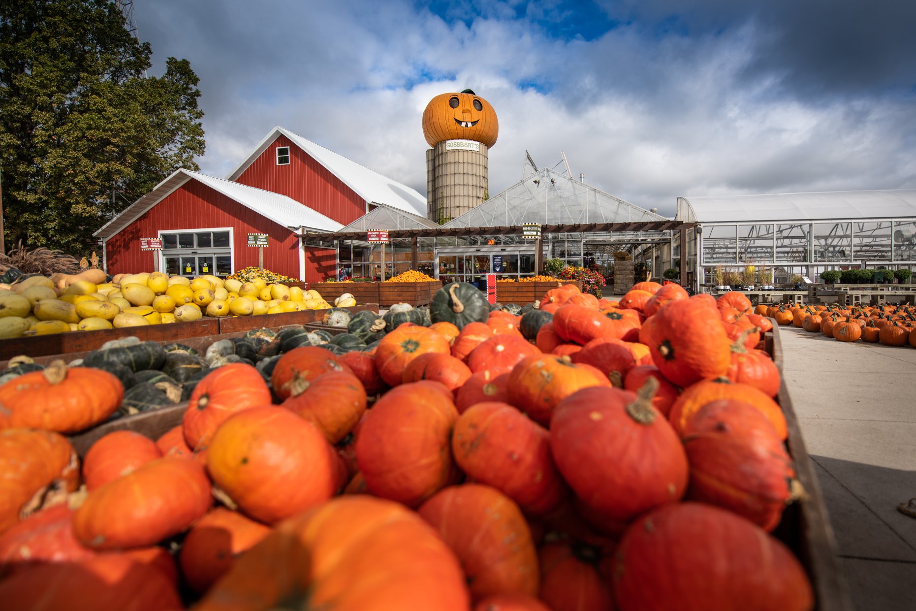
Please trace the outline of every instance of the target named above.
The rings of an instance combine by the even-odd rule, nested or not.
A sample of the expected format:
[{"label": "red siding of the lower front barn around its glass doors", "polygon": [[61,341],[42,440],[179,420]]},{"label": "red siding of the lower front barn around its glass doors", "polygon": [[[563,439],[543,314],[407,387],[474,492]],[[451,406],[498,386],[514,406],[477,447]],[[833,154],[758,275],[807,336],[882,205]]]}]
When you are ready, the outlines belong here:
[{"label": "red siding of the lower front barn around its glass doors", "polygon": [[[253,210],[226,197],[219,191],[188,180],[152,209],[129,224],[105,243],[105,260],[109,274],[152,271],[153,253],[141,251],[141,237],[156,237],[160,231],[233,228],[234,268],[257,265],[257,248],[246,245],[246,234],[267,234],[270,245],[264,249],[264,267],[271,271],[300,278],[299,238]],[[305,251],[305,279],[318,282],[333,276],[333,250]]]}]

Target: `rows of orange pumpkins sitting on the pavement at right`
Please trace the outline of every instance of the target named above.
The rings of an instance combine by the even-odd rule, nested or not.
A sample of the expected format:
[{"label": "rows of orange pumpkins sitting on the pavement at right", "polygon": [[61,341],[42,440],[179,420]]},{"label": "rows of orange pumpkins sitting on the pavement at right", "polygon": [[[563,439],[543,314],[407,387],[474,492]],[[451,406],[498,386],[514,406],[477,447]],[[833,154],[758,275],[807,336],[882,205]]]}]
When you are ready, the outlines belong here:
[{"label": "rows of orange pumpkins sitting on the pavement at right", "polygon": [[823,333],[840,342],[862,340],[870,344],[911,345],[916,348],[916,308],[911,305],[882,305],[854,308],[824,305],[764,306],[765,311],[784,325],[793,325],[811,333]]}]

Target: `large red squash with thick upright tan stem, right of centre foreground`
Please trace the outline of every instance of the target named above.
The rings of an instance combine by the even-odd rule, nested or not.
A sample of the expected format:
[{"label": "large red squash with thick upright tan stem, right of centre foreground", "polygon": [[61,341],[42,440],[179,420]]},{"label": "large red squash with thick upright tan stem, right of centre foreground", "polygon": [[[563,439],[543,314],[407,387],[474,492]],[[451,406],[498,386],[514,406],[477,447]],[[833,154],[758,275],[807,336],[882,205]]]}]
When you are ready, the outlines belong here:
[{"label": "large red squash with thick upright tan stem, right of centre foreground", "polygon": [[683,446],[651,404],[656,387],[649,377],[638,395],[583,388],[553,413],[557,468],[583,503],[609,518],[635,518],[677,501],[687,488]]}]

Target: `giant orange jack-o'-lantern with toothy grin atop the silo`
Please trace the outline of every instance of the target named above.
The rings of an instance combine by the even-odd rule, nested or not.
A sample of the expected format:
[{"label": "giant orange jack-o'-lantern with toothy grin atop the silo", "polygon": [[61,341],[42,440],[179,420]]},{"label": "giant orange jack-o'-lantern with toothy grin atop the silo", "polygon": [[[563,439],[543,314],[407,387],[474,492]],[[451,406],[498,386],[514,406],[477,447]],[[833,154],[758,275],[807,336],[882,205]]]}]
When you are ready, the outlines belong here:
[{"label": "giant orange jack-o'-lantern with toothy grin atop the silo", "polygon": [[493,106],[470,89],[437,95],[423,111],[423,136],[431,147],[444,140],[476,140],[492,148],[498,135]]}]

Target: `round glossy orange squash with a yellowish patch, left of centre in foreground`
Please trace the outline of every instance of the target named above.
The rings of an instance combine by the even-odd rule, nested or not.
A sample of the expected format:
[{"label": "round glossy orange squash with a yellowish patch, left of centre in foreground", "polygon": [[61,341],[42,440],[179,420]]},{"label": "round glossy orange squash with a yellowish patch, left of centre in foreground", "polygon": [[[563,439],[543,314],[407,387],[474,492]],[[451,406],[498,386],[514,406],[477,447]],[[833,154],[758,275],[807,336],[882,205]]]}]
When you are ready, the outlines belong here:
[{"label": "round glossy orange squash with a yellowish patch, left of centre in foreground", "polygon": [[213,434],[207,471],[231,506],[274,524],[331,498],[337,484],[331,454],[310,421],[281,407],[251,408]]}]

